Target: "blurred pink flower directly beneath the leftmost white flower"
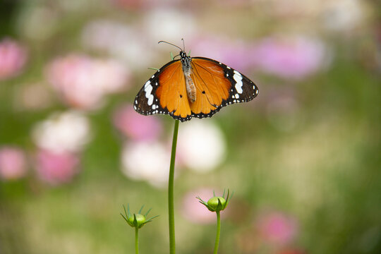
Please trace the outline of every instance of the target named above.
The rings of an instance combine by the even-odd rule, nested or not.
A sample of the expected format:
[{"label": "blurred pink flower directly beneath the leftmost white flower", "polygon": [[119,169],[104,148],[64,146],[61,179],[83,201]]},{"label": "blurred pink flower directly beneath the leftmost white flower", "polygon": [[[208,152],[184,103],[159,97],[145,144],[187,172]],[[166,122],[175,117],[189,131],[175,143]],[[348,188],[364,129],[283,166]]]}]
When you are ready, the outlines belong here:
[{"label": "blurred pink flower directly beneath the leftmost white flower", "polygon": [[40,150],[36,157],[37,175],[53,186],[70,182],[78,173],[78,164],[79,158],[68,152]]}]

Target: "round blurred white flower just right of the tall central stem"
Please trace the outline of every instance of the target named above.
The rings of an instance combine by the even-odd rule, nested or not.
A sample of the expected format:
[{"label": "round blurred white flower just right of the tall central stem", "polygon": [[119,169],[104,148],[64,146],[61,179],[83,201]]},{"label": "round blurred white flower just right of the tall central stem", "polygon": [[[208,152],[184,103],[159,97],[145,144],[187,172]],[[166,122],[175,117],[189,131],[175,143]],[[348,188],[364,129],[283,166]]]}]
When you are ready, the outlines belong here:
[{"label": "round blurred white flower just right of the tall central stem", "polygon": [[224,135],[211,121],[192,120],[179,128],[178,152],[181,161],[198,172],[211,171],[224,159]]}]

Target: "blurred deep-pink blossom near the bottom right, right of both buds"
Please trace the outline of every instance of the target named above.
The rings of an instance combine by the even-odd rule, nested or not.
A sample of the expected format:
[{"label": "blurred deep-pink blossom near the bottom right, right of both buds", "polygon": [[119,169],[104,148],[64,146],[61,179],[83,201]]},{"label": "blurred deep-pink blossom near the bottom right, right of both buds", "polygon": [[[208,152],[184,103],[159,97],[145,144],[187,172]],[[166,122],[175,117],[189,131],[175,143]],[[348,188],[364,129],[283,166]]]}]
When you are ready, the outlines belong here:
[{"label": "blurred deep-pink blossom near the bottom right, right of both buds", "polygon": [[282,212],[262,214],[258,218],[257,226],[265,241],[277,245],[290,243],[298,231],[296,220]]}]

